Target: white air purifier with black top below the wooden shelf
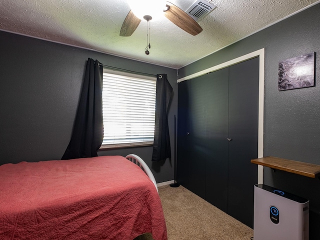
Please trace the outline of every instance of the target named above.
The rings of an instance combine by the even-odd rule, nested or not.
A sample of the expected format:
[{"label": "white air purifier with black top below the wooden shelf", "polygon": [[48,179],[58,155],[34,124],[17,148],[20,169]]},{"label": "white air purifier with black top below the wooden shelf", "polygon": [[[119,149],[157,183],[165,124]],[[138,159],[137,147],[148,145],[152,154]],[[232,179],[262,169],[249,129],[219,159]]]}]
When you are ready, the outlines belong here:
[{"label": "white air purifier with black top below the wooden shelf", "polygon": [[254,240],[308,240],[309,200],[264,184],[254,185]]}]

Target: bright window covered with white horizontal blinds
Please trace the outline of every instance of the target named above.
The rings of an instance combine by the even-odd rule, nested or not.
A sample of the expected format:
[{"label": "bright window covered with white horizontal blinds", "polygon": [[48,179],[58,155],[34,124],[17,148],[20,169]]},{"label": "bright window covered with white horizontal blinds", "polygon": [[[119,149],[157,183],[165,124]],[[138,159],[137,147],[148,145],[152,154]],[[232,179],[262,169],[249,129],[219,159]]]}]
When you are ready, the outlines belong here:
[{"label": "bright window covered with white horizontal blinds", "polygon": [[100,148],[153,144],[156,78],[103,69]]}]

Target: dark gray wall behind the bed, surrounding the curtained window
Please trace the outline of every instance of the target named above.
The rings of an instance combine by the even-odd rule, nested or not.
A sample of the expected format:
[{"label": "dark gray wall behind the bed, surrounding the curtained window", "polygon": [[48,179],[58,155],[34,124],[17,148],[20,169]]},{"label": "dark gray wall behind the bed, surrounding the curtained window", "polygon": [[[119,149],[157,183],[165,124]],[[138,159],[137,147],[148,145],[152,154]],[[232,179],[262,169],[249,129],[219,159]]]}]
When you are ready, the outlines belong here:
[{"label": "dark gray wall behind the bed, surrounding the curtained window", "polygon": [[[69,142],[87,58],[105,65],[166,73],[174,91],[169,130],[174,154],[176,69],[0,31],[0,164],[60,159]],[[99,151],[134,153],[151,166],[157,182],[173,179],[172,164],[151,163],[152,147]]]}]

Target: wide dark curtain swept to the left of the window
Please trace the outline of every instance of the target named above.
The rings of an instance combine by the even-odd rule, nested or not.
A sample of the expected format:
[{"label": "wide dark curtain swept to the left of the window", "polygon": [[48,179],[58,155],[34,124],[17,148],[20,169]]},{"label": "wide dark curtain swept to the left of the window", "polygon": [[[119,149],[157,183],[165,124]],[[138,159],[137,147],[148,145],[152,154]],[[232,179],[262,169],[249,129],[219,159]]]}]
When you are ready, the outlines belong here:
[{"label": "wide dark curtain swept to the left of the window", "polygon": [[61,159],[97,156],[103,139],[102,73],[102,65],[88,58],[71,139]]}]

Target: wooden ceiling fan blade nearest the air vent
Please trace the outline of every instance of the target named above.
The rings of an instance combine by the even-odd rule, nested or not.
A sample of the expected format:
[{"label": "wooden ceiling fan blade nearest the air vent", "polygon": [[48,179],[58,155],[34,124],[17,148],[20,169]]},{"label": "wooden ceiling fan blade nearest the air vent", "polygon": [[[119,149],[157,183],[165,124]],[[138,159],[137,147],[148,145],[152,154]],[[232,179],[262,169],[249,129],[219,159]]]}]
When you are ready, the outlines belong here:
[{"label": "wooden ceiling fan blade nearest the air vent", "polygon": [[202,31],[202,27],[186,12],[171,2],[167,1],[166,4],[169,9],[163,12],[164,16],[172,21],[175,25],[193,36]]}]

